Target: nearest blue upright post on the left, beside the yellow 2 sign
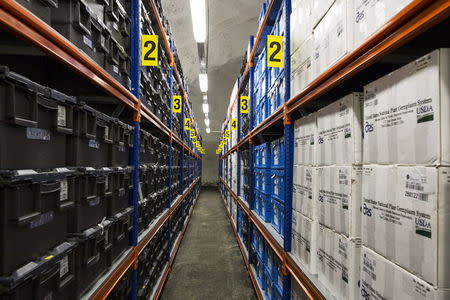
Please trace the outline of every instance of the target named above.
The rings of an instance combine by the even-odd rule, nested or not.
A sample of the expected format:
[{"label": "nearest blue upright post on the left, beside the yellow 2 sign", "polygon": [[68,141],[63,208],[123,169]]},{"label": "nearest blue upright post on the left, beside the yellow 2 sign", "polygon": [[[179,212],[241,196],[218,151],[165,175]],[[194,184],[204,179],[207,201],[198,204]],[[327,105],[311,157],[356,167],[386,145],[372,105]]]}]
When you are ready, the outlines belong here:
[{"label": "nearest blue upright post on the left, beside the yellow 2 sign", "polygon": [[[140,99],[140,59],[141,59],[141,0],[131,1],[131,92]],[[135,247],[138,241],[138,209],[139,209],[139,130],[140,130],[140,104],[133,118],[133,153],[131,163],[133,166],[133,229],[130,235],[130,244]],[[137,269],[133,265],[131,272],[131,291],[129,298],[137,299]]]}]

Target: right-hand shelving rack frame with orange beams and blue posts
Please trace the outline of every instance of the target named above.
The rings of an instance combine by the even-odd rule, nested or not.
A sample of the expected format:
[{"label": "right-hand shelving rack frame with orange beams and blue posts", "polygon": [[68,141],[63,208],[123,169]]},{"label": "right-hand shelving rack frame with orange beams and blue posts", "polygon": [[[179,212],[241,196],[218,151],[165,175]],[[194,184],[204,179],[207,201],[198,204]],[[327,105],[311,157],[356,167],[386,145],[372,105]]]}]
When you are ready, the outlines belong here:
[{"label": "right-hand shelving rack frame with orange beams and blue posts", "polygon": [[[289,2],[290,0],[271,0],[267,6],[266,15],[258,30],[256,38],[251,37],[251,53],[246,63],[245,70],[240,78],[240,85],[238,95],[234,101],[238,101],[241,92],[244,90],[246,84],[249,84],[249,96],[250,96],[250,109],[254,108],[253,88],[254,88],[254,68],[253,60],[261,51],[261,45],[264,45],[264,28],[269,24],[271,18],[273,18],[276,10],[282,5],[282,3]],[[287,4],[289,6],[289,4]],[[288,7],[290,9],[290,7]],[[284,105],[278,108],[273,114],[266,118],[263,122],[257,125],[255,128],[251,128],[250,132],[244,136],[239,137],[237,144],[228,149],[225,153],[219,156],[219,161],[223,161],[230,154],[240,152],[243,149],[249,150],[249,165],[253,166],[253,147],[254,143],[257,143],[258,137],[264,134],[273,134],[274,130],[282,130],[284,133],[284,142],[286,147],[285,153],[285,166],[292,165],[293,162],[293,125],[292,120],[297,119],[302,115],[301,111],[312,112],[318,110],[326,103],[322,103],[319,97],[327,96],[327,93],[335,92],[339,90],[341,86],[349,84],[350,79],[358,79],[358,75],[367,74],[367,72],[373,71],[377,67],[377,63],[383,58],[389,55],[396,54],[405,57],[410,55],[410,52],[403,51],[409,44],[415,40],[420,39],[427,32],[438,27],[439,24],[444,24],[448,21],[450,16],[450,1],[448,0],[414,0],[401,12],[394,16],[384,26],[382,26],[376,33],[370,36],[363,44],[356,49],[349,52],[342,57],[331,68],[322,73],[318,78],[311,82],[307,87],[303,89],[297,95],[289,95],[290,93],[290,53],[285,53],[285,78],[286,80],[286,101]],[[289,17],[287,19],[286,27],[286,48],[289,49]],[[448,23],[447,23],[448,24]],[[447,27],[448,28],[448,27]],[[433,34],[439,36],[439,34],[445,34],[445,30],[434,32]],[[439,38],[435,39],[439,44]],[[429,40],[428,40],[429,42]],[[408,44],[409,43],[409,44]],[[416,43],[417,44],[417,43]],[[442,44],[441,44],[442,45]],[[413,46],[417,47],[417,45]],[[429,45],[427,45],[429,47]],[[404,48],[402,48],[404,47]],[[422,48],[417,47],[420,51],[424,51]],[[426,47],[424,47],[426,48]],[[409,50],[409,49],[408,49]],[[425,54],[425,53],[423,53]],[[401,63],[401,62],[399,62]],[[365,73],[364,73],[365,72]],[[363,76],[363,75],[361,75]],[[342,89],[345,89],[343,87]],[[329,100],[329,99],[328,99]],[[233,105],[231,105],[232,107]],[[224,128],[226,128],[230,117],[231,111],[227,112],[226,120],[224,122]],[[250,114],[250,124],[253,124],[253,116]],[[283,129],[281,129],[283,128]],[[281,135],[281,134],[280,134]],[[254,208],[254,176],[250,171],[250,203],[246,203],[238,195],[236,195],[232,189],[228,186],[225,180],[222,179],[223,170],[222,164],[219,163],[219,183],[221,190],[228,191],[231,194],[234,201],[242,208],[242,211],[249,217],[254,227],[261,233],[266,240],[267,244],[273,249],[274,253],[282,261],[286,275],[291,276],[297,284],[301,287],[303,292],[310,299],[333,299],[331,294],[326,288],[321,286],[317,281],[317,278],[311,276],[308,272],[304,271],[304,268],[297,263],[297,261],[290,255],[290,235],[291,235],[291,209],[292,209],[292,168],[285,168],[286,175],[286,199],[285,199],[285,234],[284,244],[280,245],[277,239],[271,234],[268,228],[260,221],[260,219],[252,212]],[[238,178],[240,178],[241,169],[238,169]],[[287,214],[286,214],[287,213]],[[233,222],[231,222],[233,224]],[[233,227],[234,229],[234,227]],[[236,232],[235,232],[236,234]],[[250,231],[250,235],[252,232]],[[242,250],[242,243],[237,236],[237,241],[241,252],[244,256],[247,269],[250,273],[250,277],[257,291],[258,298],[262,298],[261,293],[258,293],[258,285],[254,280],[255,275],[252,274],[250,266],[248,265],[248,253]],[[251,239],[251,237],[250,237]],[[289,281],[290,282],[290,281]],[[290,288],[288,288],[290,289]],[[287,297],[286,294],[283,297]],[[286,299],[286,298],[285,298]]]}]

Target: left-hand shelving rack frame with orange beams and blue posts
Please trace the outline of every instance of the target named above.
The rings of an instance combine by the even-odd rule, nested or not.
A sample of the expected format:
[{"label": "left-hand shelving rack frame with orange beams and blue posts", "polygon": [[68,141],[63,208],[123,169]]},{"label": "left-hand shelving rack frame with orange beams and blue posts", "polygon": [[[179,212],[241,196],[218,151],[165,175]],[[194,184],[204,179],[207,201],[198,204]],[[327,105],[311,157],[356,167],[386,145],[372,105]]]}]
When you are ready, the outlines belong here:
[{"label": "left-hand shelving rack frame with orange beams and blue posts", "polygon": [[[141,41],[141,30],[140,30],[140,7],[141,1],[148,1],[150,7],[150,13],[154,16],[157,21],[157,27],[159,29],[159,36],[164,44],[165,51],[169,58],[170,78],[168,79],[172,94],[172,81],[173,79],[182,87],[183,101],[186,106],[189,115],[192,118],[192,109],[190,107],[188,96],[186,90],[183,86],[180,74],[177,70],[174,56],[172,54],[171,45],[167,39],[167,34],[161,23],[161,18],[159,16],[156,4],[154,0],[132,0],[131,1],[131,92],[122,86],[117,80],[115,80],[111,75],[109,75],[103,68],[98,66],[93,60],[91,60],[86,54],[80,51],[76,46],[74,46],[70,41],[62,37],[49,25],[45,24],[42,20],[34,16],[28,10],[23,8],[20,4],[14,0],[3,0],[0,2],[0,28],[7,30],[14,36],[24,40],[27,44],[32,45],[32,47],[42,51],[48,57],[52,58],[57,63],[64,65],[67,69],[74,71],[81,78],[105,92],[107,95],[113,97],[117,100],[117,103],[122,103],[126,105],[133,111],[133,125],[134,125],[134,136],[133,136],[133,153],[132,153],[132,165],[134,167],[133,176],[133,190],[132,190],[132,203],[134,206],[133,215],[133,230],[131,232],[130,245],[132,248],[128,250],[118,262],[115,263],[114,267],[111,268],[106,275],[104,275],[101,280],[87,293],[83,298],[86,299],[106,299],[109,293],[114,289],[114,287],[119,283],[120,279],[125,275],[125,273],[132,268],[131,276],[131,294],[130,299],[136,299],[137,297],[137,259],[139,254],[143,249],[150,243],[154,236],[158,233],[161,227],[169,220],[176,209],[184,203],[184,200],[188,195],[190,195],[194,189],[201,184],[201,177],[196,178],[189,187],[183,186],[183,181],[180,182],[180,194],[178,198],[173,203],[168,203],[166,210],[155,220],[151,227],[145,232],[145,235],[138,236],[138,189],[139,189],[139,129],[142,123],[141,118],[145,122],[151,124],[152,127],[156,128],[159,132],[165,135],[171,145],[176,144],[181,147],[181,160],[183,161],[184,156],[192,157],[197,161],[201,161],[201,155],[198,151],[192,150],[186,138],[183,136],[179,137],[175,132],[172,131],[172,118],[171,113],[169,126],[166,126],[155,114],[153,114],[148,108],[141,105],[140,99],[140,41]],[[171,107],[171,99],[169,100],[169,107]],[[194,127],[197,135],[199,131],[197,127]],[[172,146],[173,147],[173,146]],[[170,147],[170,149],[172,149]],[[171,150],[169,151],[169,161],[172,163]],[[199,164],[201,166],[201,164]],[[180,168],[181,170],[183,168]],[[183,177],[182,171],[180,178]],[[170,180],[168,180],[168,186],[170,187]],[[168,255],[168,265],[163,274],[163,280],[160,281],[159,286],[155,288],[154,297],[157,299],[162,291],[165,280],[170,272],[170,266],[172,265],[175,255],[180,246],[181,240],[184,236],[184,232],[189,224],[190,216],[193,211],[193,203],[190,213],[186,219],[183,226],[183,230],[176,239],[174,248]]]}]

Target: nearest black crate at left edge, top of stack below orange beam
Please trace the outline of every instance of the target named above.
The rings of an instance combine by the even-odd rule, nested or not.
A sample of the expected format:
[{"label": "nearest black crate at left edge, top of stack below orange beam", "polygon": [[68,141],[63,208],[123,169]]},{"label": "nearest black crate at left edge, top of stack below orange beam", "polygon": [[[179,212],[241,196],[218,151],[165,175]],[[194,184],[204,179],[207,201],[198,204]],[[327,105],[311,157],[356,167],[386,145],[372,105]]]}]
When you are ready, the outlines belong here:
[{"label": "nearest black crate at left edge, top of stack below orange beam", "polygon": [[0,169],[65,166],[75,103],[0,66]]}]

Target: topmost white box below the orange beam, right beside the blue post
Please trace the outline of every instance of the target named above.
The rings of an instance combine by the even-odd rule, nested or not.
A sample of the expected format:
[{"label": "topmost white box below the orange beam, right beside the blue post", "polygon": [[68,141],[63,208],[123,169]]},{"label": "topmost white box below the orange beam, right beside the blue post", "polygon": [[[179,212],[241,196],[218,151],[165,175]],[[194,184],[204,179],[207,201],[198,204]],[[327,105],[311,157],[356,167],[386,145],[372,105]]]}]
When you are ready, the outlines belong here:
[{"label": "topmost white box below the orange beam, right beside the blue post", "polygon": [[312,113],[294,123],[294,164],[316,165],[317,114]]}]

